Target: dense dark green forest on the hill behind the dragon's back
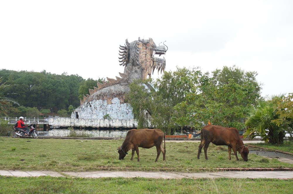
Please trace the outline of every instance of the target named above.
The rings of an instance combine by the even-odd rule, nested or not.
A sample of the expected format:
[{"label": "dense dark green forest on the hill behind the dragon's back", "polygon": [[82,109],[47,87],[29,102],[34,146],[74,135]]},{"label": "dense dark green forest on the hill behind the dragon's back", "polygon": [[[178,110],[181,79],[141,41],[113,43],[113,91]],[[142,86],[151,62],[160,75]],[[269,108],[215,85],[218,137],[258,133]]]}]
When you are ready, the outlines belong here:
[{"label": "dense dark green forest on the hill behind the dragon's back", "polygon": [[45,70],[1,69],[0,78],[0,99],[3,99],[0,116],[24,114],[37,117],[40,113],[57,114],[58,111],[59,115],[67,115],[79,106],[79,100],[89,93],[88,88],[98,87],[97,81],[103,81],[103,78],[85,80],[77,74],[57,75]]}]

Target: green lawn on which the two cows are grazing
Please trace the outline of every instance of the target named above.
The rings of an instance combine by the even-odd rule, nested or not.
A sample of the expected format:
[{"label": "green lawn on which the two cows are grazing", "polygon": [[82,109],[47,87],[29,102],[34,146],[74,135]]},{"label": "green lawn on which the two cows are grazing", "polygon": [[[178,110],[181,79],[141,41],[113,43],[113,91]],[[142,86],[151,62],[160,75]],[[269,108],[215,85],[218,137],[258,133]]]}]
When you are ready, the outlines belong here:
[{"label": "green lawn on which the two cows are grazing", "polygon": [[[207,151],[209,160],[205,160],[203,150],[197,159],[199,143],[166,142],[166,161],[161,154],[158,162],[156,148],[139,148],[140,162],[130,161],[131,151],[124,158],[118,159],[117,148],[123,140],[62,140],[0,138],[0,169],[5,170],[52,170],[52,171],[98,171],[101,167],[111,170],[138,171],[180,171],[198,172],[202,168],[212,171],[217,167],[289,167],[293,164],[267,159],[256,154],[248,155],[248,162],[234,155],[228,160],[226,146],[211,144]],[[114,169],[113,169],[114,168]]]}]

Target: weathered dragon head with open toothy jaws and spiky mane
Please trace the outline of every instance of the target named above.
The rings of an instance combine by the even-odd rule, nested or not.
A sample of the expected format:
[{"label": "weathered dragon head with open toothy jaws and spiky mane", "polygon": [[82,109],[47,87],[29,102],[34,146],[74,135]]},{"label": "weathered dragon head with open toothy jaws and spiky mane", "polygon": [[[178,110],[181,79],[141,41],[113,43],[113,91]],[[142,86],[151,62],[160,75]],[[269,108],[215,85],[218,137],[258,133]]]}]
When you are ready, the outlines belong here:
[{"label": "weathered dragon head with open toothy jaws and spiky mane", "polygon": [[[165,45],[164,42],[163,45]],[[142,79],[146,79],[147,75],[151,76],[155,69],[158,70],[158,73],[160,71],[162,73],[166,67],[165,57],[161,59],[155,57],[155,55],[158,54],[161,56],[162,54],[166,54],[168,47],[165,45],[167,47],[166,49],[163,45],[156,46],[151,38],[149,38],[149,40],[141,40],[140,37],[138,37],[138,41],[131,43],[126,40],[125,46],[120,45],[120,65],[125,66],[125,69],[127,66],[140,66],[142,69]]]}]

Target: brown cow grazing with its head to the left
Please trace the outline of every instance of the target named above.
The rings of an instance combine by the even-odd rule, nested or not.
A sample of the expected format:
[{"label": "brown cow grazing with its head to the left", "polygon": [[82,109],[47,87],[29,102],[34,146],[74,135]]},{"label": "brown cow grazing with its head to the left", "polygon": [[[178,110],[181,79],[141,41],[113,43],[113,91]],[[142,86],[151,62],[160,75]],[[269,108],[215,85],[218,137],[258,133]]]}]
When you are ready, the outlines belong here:
[{"label": "brown cow grazing with its head to the left", "polygon": [[[162,146],[164,138],[164,148]],[[133,160],[134,151],[137,154],[137,161],[139,162],[139,151],[138,147],[151,148],[156,146],[157,148],[157,158],[155,162],[158,162],[159,155],[163,153],[163,160],[165,160],[165,135],[163,131],[159,129],[132,129],[127,132],[126,138],[119,147],[119,159],[123,159],[128,150],[132,150],[132,156],[130,160]]]}]

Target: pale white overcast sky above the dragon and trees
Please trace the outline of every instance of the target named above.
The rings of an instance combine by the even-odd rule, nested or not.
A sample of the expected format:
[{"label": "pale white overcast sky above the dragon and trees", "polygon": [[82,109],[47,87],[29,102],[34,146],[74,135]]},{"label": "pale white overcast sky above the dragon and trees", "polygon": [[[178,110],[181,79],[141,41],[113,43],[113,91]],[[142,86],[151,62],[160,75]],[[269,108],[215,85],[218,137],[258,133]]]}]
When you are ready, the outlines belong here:
[{"label": "pale white overcast sky above the dragon and trees", "polygon": [[289,93],[292,2],[0,1],[0,69],[115,78],[119,44],[151,37],[167,41],[166,71],[236,65],[263,96]]}]

